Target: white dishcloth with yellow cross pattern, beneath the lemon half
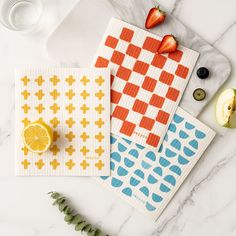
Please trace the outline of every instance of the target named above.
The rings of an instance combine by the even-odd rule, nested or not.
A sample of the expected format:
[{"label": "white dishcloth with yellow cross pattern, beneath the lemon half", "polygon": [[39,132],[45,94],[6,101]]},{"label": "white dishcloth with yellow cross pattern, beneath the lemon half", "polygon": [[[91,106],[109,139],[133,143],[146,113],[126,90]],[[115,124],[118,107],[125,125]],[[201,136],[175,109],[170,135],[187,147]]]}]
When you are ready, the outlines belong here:
[{"label": "white dishcloth with yellow cross pattern, beneath the lemon half", "polygon": [[[110,175],[109,69],[30,69],[16,72],[16,175]],[[53,129],[43,154],[21,133],[41,120]]]}]

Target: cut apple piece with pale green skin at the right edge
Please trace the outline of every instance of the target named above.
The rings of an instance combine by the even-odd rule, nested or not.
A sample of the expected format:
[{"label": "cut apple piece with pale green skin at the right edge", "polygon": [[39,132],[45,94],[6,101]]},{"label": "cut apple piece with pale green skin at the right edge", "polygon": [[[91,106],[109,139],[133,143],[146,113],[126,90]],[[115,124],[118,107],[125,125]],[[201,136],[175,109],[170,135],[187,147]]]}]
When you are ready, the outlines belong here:
[{"label": "cut apple piece with pale green skin at the right edge", "polygon": [[236,90],[224,90],[216,102],[216,120],[219,125],[236,128]]}]

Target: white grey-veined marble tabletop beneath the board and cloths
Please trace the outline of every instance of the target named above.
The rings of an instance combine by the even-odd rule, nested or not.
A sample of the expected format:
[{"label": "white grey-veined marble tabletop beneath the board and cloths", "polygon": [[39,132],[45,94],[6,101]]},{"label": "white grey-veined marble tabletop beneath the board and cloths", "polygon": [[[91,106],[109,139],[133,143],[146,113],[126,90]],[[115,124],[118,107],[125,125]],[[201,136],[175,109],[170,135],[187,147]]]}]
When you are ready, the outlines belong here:
[{"label": "white grey-veined marble tabletop beneath the board and cloths", "polygon": [[[45,1],[44,27],[38,33],[20,35],[0,26],[0,235],[80,235],[51,206],[46,194],[50,190],[70,197],[81,213],[112,236],[236,235],[236,130],[215,124],[214,101],[200,119],[218,136],[156,223],[90,178],[14,176],[14,68],[60,66],[48,57],[45,41],[75,3]],[[230,59],[233,72],[224,87],[236,87],[235,0],[160,3]]]}]

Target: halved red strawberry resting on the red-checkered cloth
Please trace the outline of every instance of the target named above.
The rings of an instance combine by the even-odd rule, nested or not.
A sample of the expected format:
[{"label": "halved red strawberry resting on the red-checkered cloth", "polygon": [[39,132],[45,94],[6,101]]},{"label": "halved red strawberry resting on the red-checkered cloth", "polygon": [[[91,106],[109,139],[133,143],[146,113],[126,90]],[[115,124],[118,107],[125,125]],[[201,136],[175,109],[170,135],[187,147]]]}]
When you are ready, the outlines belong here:
[{"label": "halved red strawberry resting on the red-checkered cloth", "polygon": [[159,54],[175,52],[178,47],[178,41],[173,35],[165,35],[161,41],[161,44],[157,50]]}]

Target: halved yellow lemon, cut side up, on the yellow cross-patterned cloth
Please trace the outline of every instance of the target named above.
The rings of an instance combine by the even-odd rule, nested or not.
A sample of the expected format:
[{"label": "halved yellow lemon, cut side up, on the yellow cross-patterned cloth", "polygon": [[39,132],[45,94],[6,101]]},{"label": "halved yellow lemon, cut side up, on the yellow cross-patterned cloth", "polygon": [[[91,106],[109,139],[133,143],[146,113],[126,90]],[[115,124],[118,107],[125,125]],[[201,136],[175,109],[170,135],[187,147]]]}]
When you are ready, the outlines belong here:
[{"label": "halved yellow lemon, cut side up, on the yellow cross-patterned cloth", "polygon": [[52,129],[41,121],[27,125],[22,132],[25,146],[35,153],[43,153],[52,144]]}]

